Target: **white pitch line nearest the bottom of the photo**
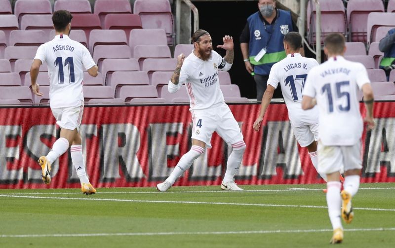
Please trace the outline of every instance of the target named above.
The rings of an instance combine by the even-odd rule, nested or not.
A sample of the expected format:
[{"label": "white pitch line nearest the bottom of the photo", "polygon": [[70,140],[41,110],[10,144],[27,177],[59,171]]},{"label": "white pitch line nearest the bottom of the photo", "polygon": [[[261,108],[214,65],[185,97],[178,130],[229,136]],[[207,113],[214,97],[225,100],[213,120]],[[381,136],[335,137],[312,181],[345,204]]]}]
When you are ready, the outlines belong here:
[{"label": "white pitch line nearest the bottom of the photo", "polygon": [[[226,235],[226,234],[276,234],[276,233],[319,233],[332,232],[332,229],[309,230],[257,230],[257,231],[226,231],[226,232],[149,232],[149,233],[78,233],[78,234],[20,234],[0,235],[0,238],[43,238],[43,237],[97,237],[97,236],[164,236],[164,235]],[[390,228],[354,228],[346,232],[395,231]]]}]

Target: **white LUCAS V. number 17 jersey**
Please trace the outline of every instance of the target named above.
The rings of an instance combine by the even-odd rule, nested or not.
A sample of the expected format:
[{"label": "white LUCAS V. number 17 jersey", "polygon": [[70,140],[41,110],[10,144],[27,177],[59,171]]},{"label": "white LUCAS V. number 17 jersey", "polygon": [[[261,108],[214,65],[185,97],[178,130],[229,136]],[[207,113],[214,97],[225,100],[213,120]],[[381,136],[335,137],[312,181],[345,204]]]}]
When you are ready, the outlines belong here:
[{"label": "white LUCAS V. number 17 jersey", "polygon": [[318,123],[318,109],[314,107],[305,111],[301,105],[307,73],[315,66],[318,66],[315,59],[292,53],[274,64],[270,70],[268,85],[277,88],[280,83],[282,96],[288,109],[288,117],[294,127]]}]

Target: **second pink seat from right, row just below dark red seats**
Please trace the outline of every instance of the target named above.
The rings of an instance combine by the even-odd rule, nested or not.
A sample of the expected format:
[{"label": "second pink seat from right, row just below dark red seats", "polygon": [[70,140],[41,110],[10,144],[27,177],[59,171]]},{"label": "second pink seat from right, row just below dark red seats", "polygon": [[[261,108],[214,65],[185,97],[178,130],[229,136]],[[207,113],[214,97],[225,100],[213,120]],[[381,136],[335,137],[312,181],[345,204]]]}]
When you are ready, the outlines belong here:
[{"label": "second pink seat from right, row just below dark red seats", "polygon": [[127,45],[125,32],[123,30],[92,30],[89,35],[91,54],[94,54],[97,45]]}]

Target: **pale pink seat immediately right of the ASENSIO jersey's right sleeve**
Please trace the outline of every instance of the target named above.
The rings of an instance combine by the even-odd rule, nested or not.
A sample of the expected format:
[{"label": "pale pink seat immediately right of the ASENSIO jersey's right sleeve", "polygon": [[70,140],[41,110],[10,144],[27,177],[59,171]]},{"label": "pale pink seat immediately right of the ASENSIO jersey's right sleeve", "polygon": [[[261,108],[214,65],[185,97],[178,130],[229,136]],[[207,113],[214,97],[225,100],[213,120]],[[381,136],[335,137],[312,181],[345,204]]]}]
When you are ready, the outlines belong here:
[{"label": "pale pink seat immediately right of the ASENSIO jersey's right sleeve", "polygon": [[127,45],[97,45],[93,60],[100,68],[104,59],[129,59],[130,49]]}]

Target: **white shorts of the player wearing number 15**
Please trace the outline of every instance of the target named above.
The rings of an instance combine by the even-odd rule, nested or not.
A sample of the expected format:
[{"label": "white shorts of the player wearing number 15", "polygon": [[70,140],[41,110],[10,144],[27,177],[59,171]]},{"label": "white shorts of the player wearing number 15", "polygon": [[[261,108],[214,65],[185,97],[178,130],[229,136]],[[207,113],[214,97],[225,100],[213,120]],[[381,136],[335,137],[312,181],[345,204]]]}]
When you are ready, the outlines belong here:
[{"label": "white shorts of the player wearing number 15", "polygon": [[318,173],[331,174],[340,171],[362,169],[361,143],[355,145],[323,145],[318,141]]}]

